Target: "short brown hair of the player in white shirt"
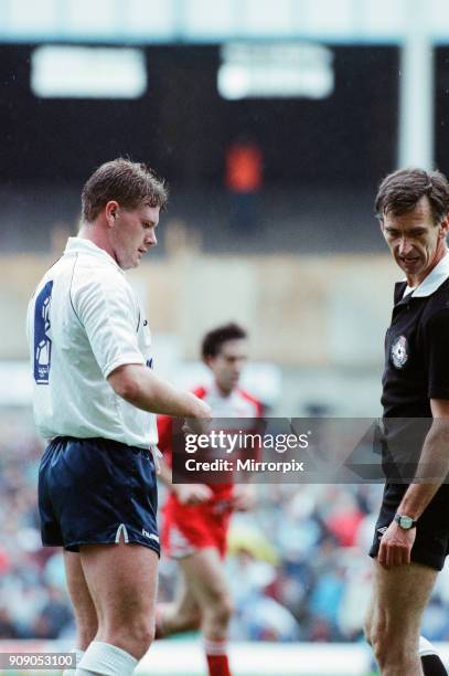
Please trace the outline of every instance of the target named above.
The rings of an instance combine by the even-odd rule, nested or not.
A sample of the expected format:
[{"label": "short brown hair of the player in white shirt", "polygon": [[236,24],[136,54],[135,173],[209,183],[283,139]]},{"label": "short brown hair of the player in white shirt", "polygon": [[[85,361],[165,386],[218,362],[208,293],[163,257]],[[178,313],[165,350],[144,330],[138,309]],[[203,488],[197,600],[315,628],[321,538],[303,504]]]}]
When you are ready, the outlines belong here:
[{"label": "short brown hair of the player in white shirt", "polygon": [[163,179],[147,165],[119,157],[98,167],[84,184],[83,221],[92,223],[111,200],[124,209],[147,204],[163,211],[168,189]]}]

